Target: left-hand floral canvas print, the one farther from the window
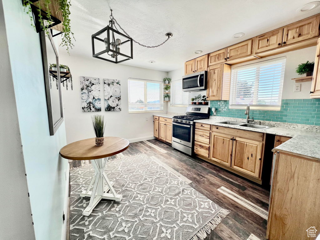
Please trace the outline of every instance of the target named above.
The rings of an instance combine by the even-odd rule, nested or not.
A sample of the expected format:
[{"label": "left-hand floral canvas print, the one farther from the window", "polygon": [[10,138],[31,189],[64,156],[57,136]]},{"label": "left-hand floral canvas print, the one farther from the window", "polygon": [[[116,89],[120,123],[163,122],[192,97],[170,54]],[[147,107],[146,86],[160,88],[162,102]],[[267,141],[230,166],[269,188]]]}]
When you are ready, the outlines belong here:
[{"label": "left-hand floral canvas print, the one farther from the window", "polygon": [[83,112],[100,112],[100,79],[80,76],[81,101]]}]

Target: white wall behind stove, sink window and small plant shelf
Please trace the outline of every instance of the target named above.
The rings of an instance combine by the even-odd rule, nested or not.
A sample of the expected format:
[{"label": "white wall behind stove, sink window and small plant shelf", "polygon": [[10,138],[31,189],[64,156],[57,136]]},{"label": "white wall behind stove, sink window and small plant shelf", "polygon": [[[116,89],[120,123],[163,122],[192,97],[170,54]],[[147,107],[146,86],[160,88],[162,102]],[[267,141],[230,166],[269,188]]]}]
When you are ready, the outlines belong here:
[{"label": "white wall behind stove, sink window and small plant shelf", "polygon": [[[316,57],[316,46],[295,50],[292,52],[286,52],[282,54],[278,54],[275,56],[270,56],[267,58],[263,58],[260,60],[254,60],[234,66],[239,66],[243,64],[249,64],[254,62],[259,62],[263,60],[278,58],[286,56],[286,63],[285,63],[285,71],[284,71],[284,84],[283,84],[283,93],[282,99],[309,99],[310,98],[310,89],[311,89],[311,82],[301,83],[301,92],[293,92],[293,85],[295,84],[291,79],[300,77],[296,73],[296,68],[300,63],[304,63],[306,61],[313,62]],[[183,63],[181,63],[183,65]],[[168,72],[168,77],[172,80],[181,79],[184,75],[184,68],[179,68],[173,71]],[[206,92],[190,92],[189,93],[189,104],[191,102],[191,98],[195,95],[202,94],[206,95]],[[170,107],[170,102],[168,103],[168,112],[177,112],[177,113],[184,113],[186,112],[186,107]]]}]

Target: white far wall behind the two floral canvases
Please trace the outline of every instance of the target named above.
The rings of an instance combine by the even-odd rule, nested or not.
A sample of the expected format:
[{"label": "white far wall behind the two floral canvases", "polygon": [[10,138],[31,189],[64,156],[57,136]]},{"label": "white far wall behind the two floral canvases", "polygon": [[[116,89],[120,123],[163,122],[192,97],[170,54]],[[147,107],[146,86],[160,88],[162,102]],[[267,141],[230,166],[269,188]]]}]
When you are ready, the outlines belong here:
[{"label": "white far wall behind the two floral canvases", "polygon": [[[60,55],[60,64],[69,66],[73,80],[73,91],[62,87],[68,143],[95,137],[91,116],[97,113],[104,115],[107,122],[104,136],[123,137],[131,142],[154,138],[153,113],[129,114],[128,112],[128,78],[162,81],[167,76],[166,72],[109,63],[93,57],[73,57],[72,50],[71,56]],[[101,101],[101,112],[82,112],[80,76],[99,77],[101,89],[103,89],[103,78],[120,80],[122,110],[106,112],[104,101]],[[101,97],[104,98],[103,93]],[[166,111],[164,104],[164,113]]]}]

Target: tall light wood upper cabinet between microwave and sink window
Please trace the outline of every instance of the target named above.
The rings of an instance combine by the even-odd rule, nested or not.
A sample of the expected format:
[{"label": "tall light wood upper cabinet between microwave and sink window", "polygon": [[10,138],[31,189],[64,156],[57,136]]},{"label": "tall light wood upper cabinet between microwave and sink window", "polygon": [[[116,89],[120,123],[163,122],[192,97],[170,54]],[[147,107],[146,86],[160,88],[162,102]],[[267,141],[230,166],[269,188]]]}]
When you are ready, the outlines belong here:
[{"label": "tall light wood upper cabinet between microwave and sink window", "polygon": [[207,74],[207,100],[229,100],[231,66],[212,65]]}]

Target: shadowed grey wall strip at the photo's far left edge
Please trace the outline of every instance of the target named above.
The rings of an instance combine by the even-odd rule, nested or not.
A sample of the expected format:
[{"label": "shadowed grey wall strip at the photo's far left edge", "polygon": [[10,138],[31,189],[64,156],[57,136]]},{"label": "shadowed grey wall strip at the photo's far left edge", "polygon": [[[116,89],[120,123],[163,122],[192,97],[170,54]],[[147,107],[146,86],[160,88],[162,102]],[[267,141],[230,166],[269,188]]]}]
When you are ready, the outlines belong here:
[{"label": "shadowed grey wall strip at the photo's far left edge", "polygon": [[0,1],[0,239],[35,239],[7,35]]}]

